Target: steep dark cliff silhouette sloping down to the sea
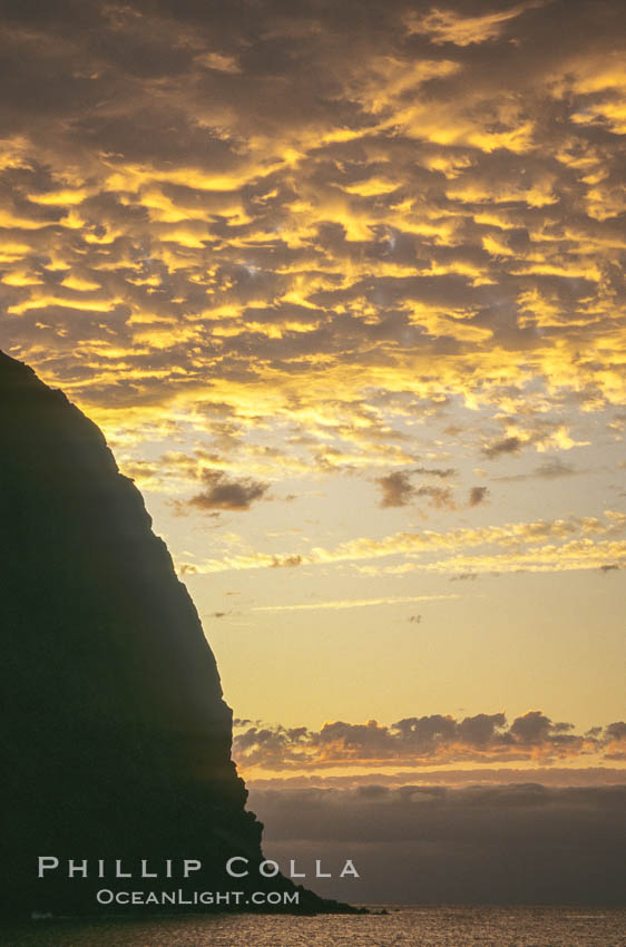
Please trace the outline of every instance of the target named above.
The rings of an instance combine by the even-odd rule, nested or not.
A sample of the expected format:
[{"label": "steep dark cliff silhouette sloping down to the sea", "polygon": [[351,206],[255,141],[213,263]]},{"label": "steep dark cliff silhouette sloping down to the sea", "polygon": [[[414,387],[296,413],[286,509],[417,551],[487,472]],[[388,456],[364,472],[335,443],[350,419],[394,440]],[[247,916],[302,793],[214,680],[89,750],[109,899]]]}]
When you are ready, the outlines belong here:
[{"label": "steep dark cliff silhouette sloping down to the sea", "polygon": [[[150,524],[99,429],[0,353],[4,914],[97,912],[102,887],[293,890],[224,873],[232,856],[258,865],[262,826],[215,658]],[[38,880],[39,856],[60,869]],[[68,879],[69,858],[89,860],[87,879]],[[173,859],[174,878],[116,882],[118,858]],[[202,873],[182,880],[182,858]],[[301,908],[333,907],[301,889]]]}]

